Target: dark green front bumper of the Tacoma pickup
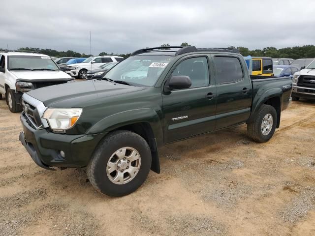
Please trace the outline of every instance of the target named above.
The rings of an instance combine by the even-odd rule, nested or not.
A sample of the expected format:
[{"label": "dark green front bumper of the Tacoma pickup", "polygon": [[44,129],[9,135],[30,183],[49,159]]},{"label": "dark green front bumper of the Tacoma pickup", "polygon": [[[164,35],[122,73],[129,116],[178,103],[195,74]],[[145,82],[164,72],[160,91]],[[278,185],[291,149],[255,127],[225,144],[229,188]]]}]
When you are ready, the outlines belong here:
[{"label": "dark green front bumper of the Tacoma pickup", "polygon": [[[47,129],[35,129],[32,123],[21,114],[23,132],[20,141],[40,167],[54,170],[51,167],[85,167],[88,165],[93,151],[103,137],[95,135],[55,134]],[[65,156],[60,155],[63,150]]]}]

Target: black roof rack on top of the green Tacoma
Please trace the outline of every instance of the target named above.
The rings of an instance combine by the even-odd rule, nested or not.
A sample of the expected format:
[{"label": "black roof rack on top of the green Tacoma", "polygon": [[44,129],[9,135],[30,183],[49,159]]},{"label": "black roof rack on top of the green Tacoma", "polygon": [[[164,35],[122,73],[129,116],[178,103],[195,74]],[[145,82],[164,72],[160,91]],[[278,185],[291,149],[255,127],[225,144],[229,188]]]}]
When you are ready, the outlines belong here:
[{"label": "black roof rack on top of the green Tacoma", "polygon": [[131,56],[138,55],[141,53],[147,53],[147,52],[153,52],[156,49],[172,49],[172,48],[178,48],[178,50],[175,53],[175,56],[182,55],[185,53],[192,53],[192,52],[229,52],[229,53],[240,53],[240,50],[237,48],[196,48],[195,46],[167,46],[167,47],[156,47],[156,48],[143,48],[139,49],[133,53],[131,53]]}]

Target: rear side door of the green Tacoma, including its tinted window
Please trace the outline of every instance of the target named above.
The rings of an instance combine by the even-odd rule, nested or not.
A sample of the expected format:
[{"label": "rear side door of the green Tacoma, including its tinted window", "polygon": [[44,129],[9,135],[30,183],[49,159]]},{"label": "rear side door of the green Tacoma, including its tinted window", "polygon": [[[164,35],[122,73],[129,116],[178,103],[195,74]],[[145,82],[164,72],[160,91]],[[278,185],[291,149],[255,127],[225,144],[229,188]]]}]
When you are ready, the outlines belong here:
[{"label": "rear side door of the green Tacoma, including its tinted window", "polygon": [[244,59],[235,56],[213,55],[217,108],[216,129],[245,122],[251,114],[252,82]]}]

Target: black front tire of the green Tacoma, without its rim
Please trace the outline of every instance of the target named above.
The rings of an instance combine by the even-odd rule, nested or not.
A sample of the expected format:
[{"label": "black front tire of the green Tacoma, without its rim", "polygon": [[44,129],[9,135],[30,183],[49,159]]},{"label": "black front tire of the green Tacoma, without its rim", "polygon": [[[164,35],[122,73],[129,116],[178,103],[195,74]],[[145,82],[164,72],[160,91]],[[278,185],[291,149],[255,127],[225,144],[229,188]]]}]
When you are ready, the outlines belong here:
[{"label": "black front tire of the green Tacoma, without its rim", "polygon": [[[141,156],[137,175],[125,184],[115,184],[107,176],[106,168],[112,154],[123,147],[136,149]],[[148,143],[138,134],[118,130],[107,135],[95,148],[87,166],[87,176],[91,184],[101,193],[120,197],[134,192],[146,180],[151,168],[151,151]]]}]

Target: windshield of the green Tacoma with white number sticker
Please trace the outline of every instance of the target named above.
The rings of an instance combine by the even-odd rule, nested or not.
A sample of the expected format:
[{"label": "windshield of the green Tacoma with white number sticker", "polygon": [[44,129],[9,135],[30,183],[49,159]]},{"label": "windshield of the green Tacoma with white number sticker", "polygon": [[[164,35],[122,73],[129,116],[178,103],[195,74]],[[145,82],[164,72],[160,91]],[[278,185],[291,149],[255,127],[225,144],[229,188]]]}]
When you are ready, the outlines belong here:
[{"label": "windshield of the green Tacoma with white number sticker", "polygon": [[129,57],[107,72],[105,77],[131,84],[154,86],[171,59],[171,56]]}]

